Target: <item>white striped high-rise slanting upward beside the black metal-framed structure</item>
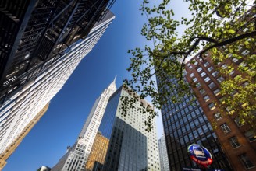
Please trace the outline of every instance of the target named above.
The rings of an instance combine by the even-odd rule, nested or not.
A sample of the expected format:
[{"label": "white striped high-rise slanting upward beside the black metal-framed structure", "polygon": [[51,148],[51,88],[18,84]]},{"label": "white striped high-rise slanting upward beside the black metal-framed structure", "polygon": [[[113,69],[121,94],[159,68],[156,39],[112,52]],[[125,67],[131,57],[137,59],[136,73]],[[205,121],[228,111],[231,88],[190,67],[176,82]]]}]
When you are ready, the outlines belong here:
[{"label": "white striped high-rise slanting upward beside the black metal-framed structure", "polygon": [[5,96],[0,108],[0,154],[59,92],[76,66],[91,51],[114,18],[112,12],[108,11],[104,19],[94,25],[86,38],[76,40],[65,51],[62,51],[58,58],[44,61],[40,72],[36,75],[30,77],[30,72],[23,73],[30,79],[26,79],[27,81],[20,84],[19,88],[13,90],[13,93]]}]

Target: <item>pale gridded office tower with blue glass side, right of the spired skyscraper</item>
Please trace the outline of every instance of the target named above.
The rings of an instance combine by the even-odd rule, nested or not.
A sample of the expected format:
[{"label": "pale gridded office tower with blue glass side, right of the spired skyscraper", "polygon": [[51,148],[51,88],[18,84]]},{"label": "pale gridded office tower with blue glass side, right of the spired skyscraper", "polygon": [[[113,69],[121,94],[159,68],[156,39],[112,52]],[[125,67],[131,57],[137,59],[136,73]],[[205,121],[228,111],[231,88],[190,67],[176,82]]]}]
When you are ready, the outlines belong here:
[{"label": "pale gridded office tower with blue glass side, right of the spired skyscraper", "polygon": [[130,98],[137,95],[131,95],[124,86],[121,86],[109,98],[99,128],[101,134],[109,139],[108,152],[104,165],[95,162],[93,170],[160,170],[155,118],[152,119],[152,131],[145,131],[144,121],[147,120],[149,113],[139,111],[140,104],[151,108],[153,106],[141,100],[123,116],[122,96]]}]

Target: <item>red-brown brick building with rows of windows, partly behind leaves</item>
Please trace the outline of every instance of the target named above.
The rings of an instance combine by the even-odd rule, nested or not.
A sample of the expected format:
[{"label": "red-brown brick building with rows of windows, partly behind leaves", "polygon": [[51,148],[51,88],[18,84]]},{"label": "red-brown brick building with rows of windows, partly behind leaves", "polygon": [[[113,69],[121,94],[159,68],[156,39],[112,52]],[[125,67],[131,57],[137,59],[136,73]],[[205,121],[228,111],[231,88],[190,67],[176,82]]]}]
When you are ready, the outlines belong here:
[{"label": "red-brown brick building with rows of windows, partly behind leaves", "polygon": [[[234,79],[236,75],[240,74],[237,68],[240,65],[245,65],[244,58],[254,53],[255,50],[253,49],[241,47],[237,54],[242,58],[234,58],[232,54],[229,54],[230,58],[226,61],[214,65],[211,52],[209,52],[205,55],[204,61],[199,56],[195,56],[191,58],[195,62],[192,64],[189,61],[186,65],[187,80],[197,84],[192,89],[206,117],[215,124],[215,134],[236,170],[255,169],[256,134],[249,125],[240,123],[240,117],[237,113],[230,111],[228,108],[223,111],[220,107],[220,104],[224,103],[223,96],[220,94],[220,84],[226,77]],[[228,65],[233,65],[234,70],[227,75],[223,75],[219,68],[226,69]],[[247,86],[246,82],[242,84]],[[235,95],[230,94],[230,96]]]}]

